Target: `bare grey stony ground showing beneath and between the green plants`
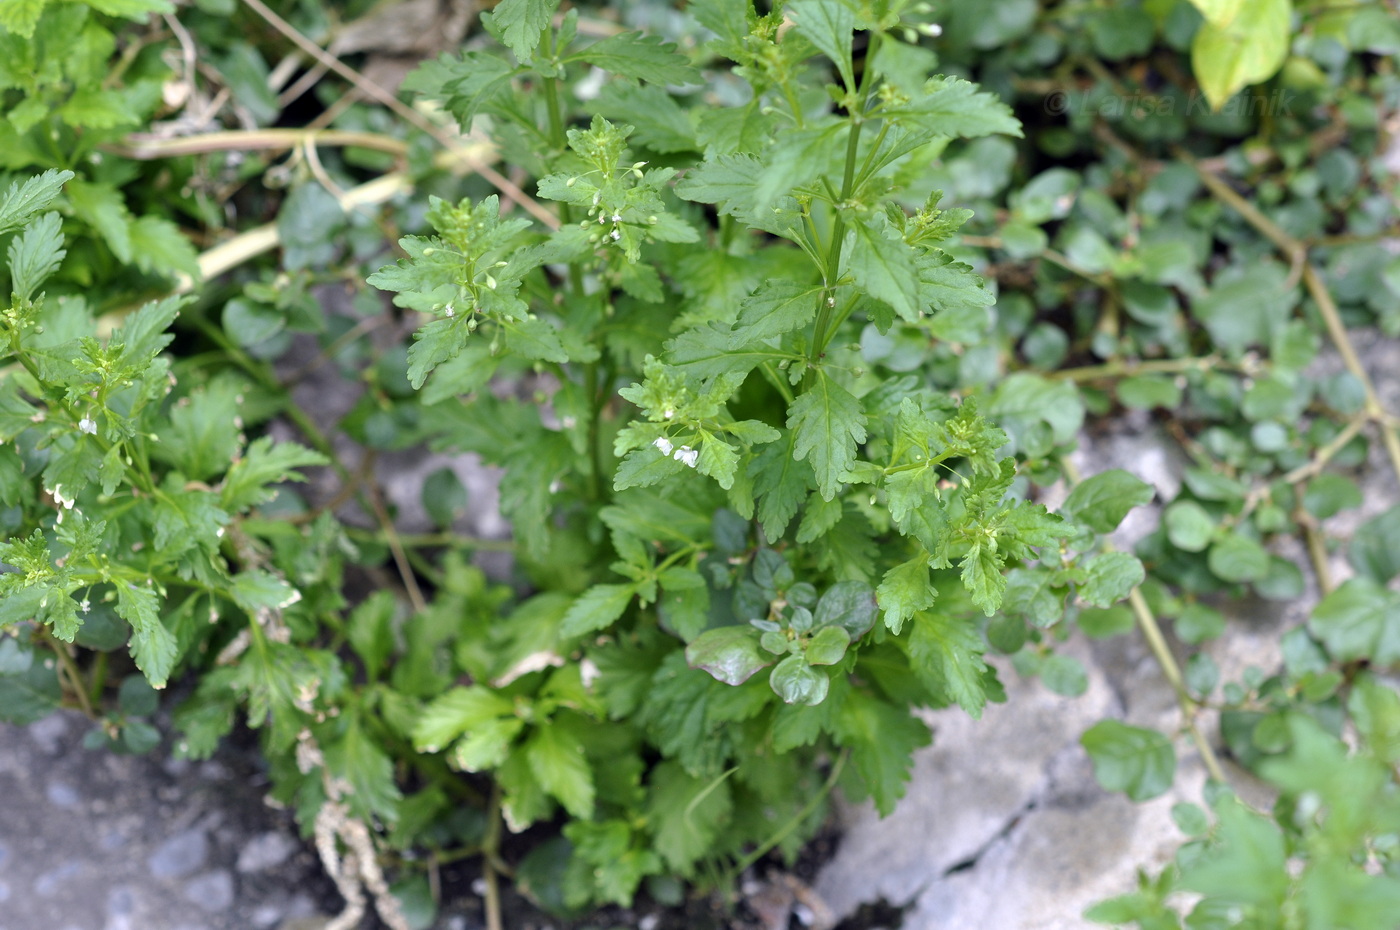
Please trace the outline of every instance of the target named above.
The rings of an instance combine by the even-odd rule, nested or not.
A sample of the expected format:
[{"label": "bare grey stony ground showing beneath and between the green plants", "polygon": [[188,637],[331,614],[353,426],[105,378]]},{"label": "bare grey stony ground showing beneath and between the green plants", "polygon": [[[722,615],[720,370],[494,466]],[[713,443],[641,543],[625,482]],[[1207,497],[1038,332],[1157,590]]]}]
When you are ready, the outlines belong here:
[{"label": "bare grey stony ground showing beneath and between the green plants", "polygon": [[[1359,345],[1368,346],[1368,366],[1392,409],[1400,409],[1400,343]],[[1127,420],[1085,436],[1079,465],[1086,475],[1127,468],[1169,494],[1180,473],[1172,448],[1149,420]],[[421,458],[416,464],[421,468]],[[472,478],[465,464],[452,465]],[[1400,500],[1379,448],[1372,465],[1362,511],[1337,517],[1329,531],[1345,535]],[[1155,520],[1144,511],[1124,532],[1147,532]],[[1301,550],[1282,555],[1303,560]],[[1334,571],[1345,574],[1340,559]],[[1229,632],[1212,644],[1224,679],[1250,664],[1273,668],[1280,632],[1302,622],[1313,598],[1231,605]],[[890,930],[1091,926],[1081,917],[1085,906],[1130,889],[1137,868],[1170,857],[1182,840],[1170,807],[1200,801],[1204,773],[1179,745],[1170,794],[1134,805],[1102,791],[1079,735],[1105,717],[1170,728],[1177,710],[1138,637],[1068,650],[1088,671],[1084,696],[1058,698],[1005,667],[1009,700],[988,707],[981,721],[958,710],[930,716],[934,745],[920,754],[895,817],[843,810],[844,833],[811,888],[755,882],[749,910],[773,929],[790,919]],[[69,714],[0,726],[0,930],[314,930],[337,910],[290,817],[263,803],[251,745],[228,747],[204,763],[175,763],[158,754],[84,749],[85,728]],[[1233,775],[1249,791],[1247,779]],[[475,930],[477,913],[475,902],[462,902],[434,930]],[[871,923],[871,915],[883,915],[883,923]],[[671,924],[655,915],[627,920]],[[525,923],[545,926],[535,919],[512,926]]]}]

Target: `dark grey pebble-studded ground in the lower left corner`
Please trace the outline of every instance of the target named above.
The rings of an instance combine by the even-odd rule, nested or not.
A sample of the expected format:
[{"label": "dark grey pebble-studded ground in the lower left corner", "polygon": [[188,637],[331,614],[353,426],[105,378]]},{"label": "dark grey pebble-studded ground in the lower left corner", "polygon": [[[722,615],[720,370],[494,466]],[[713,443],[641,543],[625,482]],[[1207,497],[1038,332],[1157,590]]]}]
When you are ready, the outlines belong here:
[{"label": "dark grey pebble-studded ground in the lower left corner", "polygon": [[[80,714],[49,720],[38,735],[0,724],[0,930],[272,930],[339,909],[314,857],[291,854],[288,815],[263,803],[252,747],[167,768],[84,749]],[[235,878],[255,839],[279,864]]]}]

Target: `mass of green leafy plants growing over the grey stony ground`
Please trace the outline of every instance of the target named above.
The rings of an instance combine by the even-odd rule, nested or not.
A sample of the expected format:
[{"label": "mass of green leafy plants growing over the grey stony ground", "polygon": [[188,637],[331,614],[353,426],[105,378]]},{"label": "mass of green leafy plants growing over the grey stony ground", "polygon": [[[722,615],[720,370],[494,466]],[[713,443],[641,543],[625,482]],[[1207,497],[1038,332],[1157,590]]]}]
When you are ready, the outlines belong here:
[{"label": "mass of green leafy plants growing over the grey stony ground", "polygon": [[[1359,543],[1371,580],[1289,634],[1287,674],[1212,700],[1210,658],[1179,668],[1166,636],[1218,636],[1221,595],[1295,597],[1302,571],[1268,549],[1281,534],[1330,588],[1317,522],[1358,503],[1345,469],[1364,430],[1400,469],[1354,353],[1343,375],[1309,368],[1324,338],[1347,359],[1344,324],[1400,321],[1379,169],[1316,141],[1337,125],[1358,151],[1375,137],[1369,101],[1397,88],[1365,52],[1386,34],[1369,4],[1308,8],[1287,60],[1197,57],[1211,113],[1186,102],[1205,27],[1184,0],[1022,6],[708,0],[664,38],[504,0],[484,17],[494,42],[409,77],[419,108],[377,95],[388,109],[337,102],[330,129],[287,130],[269,127],[269,81],[290,70],[266,62],[283,36],[329,57],[300,32],[321,38],[326,11],[202,3],[181,11],[182,48],[216,62],[252,127],[190,139],[125,134],[164,112],[174,27],[122,28],[105,17],[126,8],[102,4],[0,22],[59,62],[0,87],[18,140],[3,164],[22,172],[0,203],[7,719],[67,703],[98,721],[94,742],[144,751],[151,693],[123,651],[157,688],[188,672],[176,751],[211,752],[242,714],[347,898],[368,888],[402,926],[379,863],[409,875],[421,853],[480,854],[493,908],[500,873],[563,912],[643,882],[666,896],[675,877],[724,885],[795,856],[834,787],[890,811],[930,738],[911,709],[1002,699],[988,653],[1074,695],[1086,678],[1057,644],[1137,627],[1212,780],[1226,772],[1197,719],[1222,710],[1231,755],[1291,794],[1277,828],[1212,794],[1215,845],[1095,916],[1175,919],[1173,889],[1214,894],[1193,857],[1268,831],[1316,863],[1288,885],[1256,857],[1268,888],[1369,889],[1348,861],[1389,849],[1383,818],[1333,835],[1295,812],[1351,780],[1389,797],[1390,692],[1361,664],[1396,658],[1393,518]],[[273,32],[231,39],[230,15]],[[1002,99],[930,77],[939,63]],[[1224,105],[1280,63],[1296,106]],[[85,123],[71,99],[98,92],[129,118]],[[274,167],[228,154],[279,147],[293,155]],[[487,168],[497,153],[510,176]],[[237,235],[196,261],[175,221]],[[281,268],[252,263],[269,242]],[[175,273],[193,290],[230,268],[130,311]],[[358,322],[318,301],[365,277],[396,311],[363,287]],[[363,339],[393,322],[412,342]],[[294,338],[321,354],[288,374]],[[294,401],[316,366],[363,387],[336,424],[358,465]],[[1105,538],[1154,490],[1067,465],[1085,417],[1121,410],[1170,412],[1191,458],[1134,553]],[[309,448],[249,441],[276,417]],[[449,472],[424,490],[438,532],[395,525],[375,455],[424,443],[503,469],[514,541],[451,529]],[[286,483],[318,465],[336,492]],[[1056,515],[1033,496],[1061,478]],[[470,564],[493,548],[511,584]],[[357,578],[379,590],[351,604]],[[1355,721],[1371,755],[1340,755],[1299,714],[1333,734]],[[1169,734],[1106,721],[1084,744],[1133,798],[1175,775]],[[1183,808],[1190,832],[1204,821]],[[531,831],[518,863],[503,829]]]}]

